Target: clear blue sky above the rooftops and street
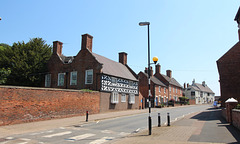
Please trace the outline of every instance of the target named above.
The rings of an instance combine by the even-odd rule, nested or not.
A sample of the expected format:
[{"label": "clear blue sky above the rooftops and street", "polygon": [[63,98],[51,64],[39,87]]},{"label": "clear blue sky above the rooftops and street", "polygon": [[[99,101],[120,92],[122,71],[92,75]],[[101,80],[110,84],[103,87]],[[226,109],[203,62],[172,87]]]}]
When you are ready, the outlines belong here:
[{"label": "clear blue sky above the rooftops and street", "polygon": [[[63,54],[74,56],[81,35],[93,36],[93,52],[118,61],[128,53],[136,72],[147,66],[147,27],[151,57],[161,73],[172,70],[183,85],[206,81],[220,95],[216,61],[238,42],[234,17],[237,0],[1,0],[0,43],[41,37],[63,42]],[[155,68],[154,68],[155,69]]]}]

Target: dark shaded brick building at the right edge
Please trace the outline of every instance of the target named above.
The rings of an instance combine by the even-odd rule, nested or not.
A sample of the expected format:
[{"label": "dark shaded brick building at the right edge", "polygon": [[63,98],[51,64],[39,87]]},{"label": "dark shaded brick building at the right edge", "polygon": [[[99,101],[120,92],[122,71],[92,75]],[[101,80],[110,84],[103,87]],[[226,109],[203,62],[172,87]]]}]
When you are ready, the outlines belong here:
[{"label": "dark shaded brick building at the right edge", "polygon": [[[240,40],[240,8],[234,19],[238,23]],[[217,60],[222,106],[228,98],[240,102],[240,42],[238,41],[229,51]]]}]

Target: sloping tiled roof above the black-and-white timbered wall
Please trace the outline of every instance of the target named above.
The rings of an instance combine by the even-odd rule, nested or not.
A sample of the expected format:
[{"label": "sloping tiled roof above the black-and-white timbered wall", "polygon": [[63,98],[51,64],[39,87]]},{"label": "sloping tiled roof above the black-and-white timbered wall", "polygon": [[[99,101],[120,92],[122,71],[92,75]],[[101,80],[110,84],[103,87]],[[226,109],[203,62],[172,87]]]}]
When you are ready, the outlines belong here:
[{"label": "sloping tiled roof above the black-and-white timbered wall", "polygon": [[122,63],[110,60],[104,56],[92,53],[96,60],[103,65],[102,72],[104,74],[126,78],[129,80],[138,81],[129,69]]}]

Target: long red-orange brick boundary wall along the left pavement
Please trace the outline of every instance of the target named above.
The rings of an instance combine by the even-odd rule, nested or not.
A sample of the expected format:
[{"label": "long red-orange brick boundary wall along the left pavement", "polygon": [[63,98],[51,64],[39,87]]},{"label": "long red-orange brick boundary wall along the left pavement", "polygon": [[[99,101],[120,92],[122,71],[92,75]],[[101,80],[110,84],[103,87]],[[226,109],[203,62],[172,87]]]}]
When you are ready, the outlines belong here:
[{"label": "long red-orange brick boundary wall along the left pavement", "polygon": [[100,112],[100,92],[0,86],[0,126]]}]

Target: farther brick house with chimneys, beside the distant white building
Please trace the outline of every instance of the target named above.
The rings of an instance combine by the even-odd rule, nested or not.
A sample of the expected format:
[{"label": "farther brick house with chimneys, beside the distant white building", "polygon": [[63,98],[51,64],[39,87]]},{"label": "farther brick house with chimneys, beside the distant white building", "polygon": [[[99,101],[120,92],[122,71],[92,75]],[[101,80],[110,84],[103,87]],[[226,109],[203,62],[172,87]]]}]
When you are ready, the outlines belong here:
[{"label": "farther brick house with chimneys, beside the distant white building", "polygon": [[172,71],[167,70],[166,75],[161,74],[161,66],[156,65],[156,72],[154,74],[162,83],[167,86],[167,100],[179,101],[179,97],[182,97],[182,86],[172,77]]}]

